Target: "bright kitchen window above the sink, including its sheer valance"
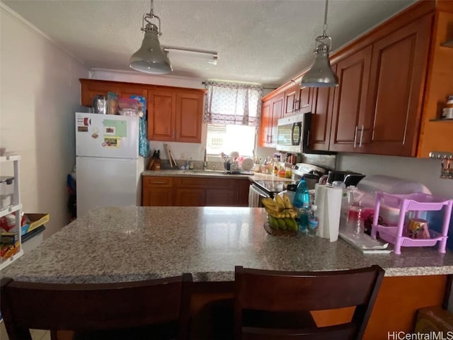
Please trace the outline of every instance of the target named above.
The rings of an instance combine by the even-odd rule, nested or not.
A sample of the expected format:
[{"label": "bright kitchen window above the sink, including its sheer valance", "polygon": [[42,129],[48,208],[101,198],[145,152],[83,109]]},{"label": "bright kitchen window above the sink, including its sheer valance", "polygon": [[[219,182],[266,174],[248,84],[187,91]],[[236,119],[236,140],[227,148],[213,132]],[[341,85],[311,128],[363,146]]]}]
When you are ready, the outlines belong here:
[{"label": "bright kitchen window above the sink, including its sheer valance", "polygon": [[258,84],[205,81],[207,89],[203,121],[207,123],[207,153],[238,151],[251,156],[260,122]]}]

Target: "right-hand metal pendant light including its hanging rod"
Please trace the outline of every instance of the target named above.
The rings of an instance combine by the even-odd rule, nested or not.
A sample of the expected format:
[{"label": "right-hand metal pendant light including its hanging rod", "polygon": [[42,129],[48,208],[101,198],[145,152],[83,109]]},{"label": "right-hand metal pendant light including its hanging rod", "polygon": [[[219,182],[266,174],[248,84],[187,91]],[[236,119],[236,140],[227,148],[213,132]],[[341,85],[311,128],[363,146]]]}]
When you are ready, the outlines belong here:
[{"label": "right-hand metal pendant light including its hanging rod", "polygon": [[[306,72],[304,77],[302,77],[301,87],[338,86],[338,77],[333,72],[331,61],[328,59],[328,54],[332,50],[332,39],[326,34],[327,6],[328,0],[326,0],[326,10],[324,11],[323,35],[319,35],[315,40],[316,48],[314,52],[316,53],[316,57],[309,72]],[[328,40],[328,45],[326,44],[326,40]]]}]

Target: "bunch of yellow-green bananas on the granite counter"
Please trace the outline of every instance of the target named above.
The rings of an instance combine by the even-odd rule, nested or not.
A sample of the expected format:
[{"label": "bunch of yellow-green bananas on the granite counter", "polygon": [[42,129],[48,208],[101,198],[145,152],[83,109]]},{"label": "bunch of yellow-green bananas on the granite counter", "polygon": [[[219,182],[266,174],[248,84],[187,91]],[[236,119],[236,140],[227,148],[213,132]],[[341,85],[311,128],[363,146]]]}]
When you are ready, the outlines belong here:
[{"label": "bunch of yellow-green bananas on the granite counter", "polygon": [[268,222],[270,227],[282,230],[297,230],[297,222],[294,217],[297,217],[297,211],[294,210],[291,200],[286,194],[283,197],[275,195],[275,200],[272,198],[263,198],[261,200],[268,212]]}]

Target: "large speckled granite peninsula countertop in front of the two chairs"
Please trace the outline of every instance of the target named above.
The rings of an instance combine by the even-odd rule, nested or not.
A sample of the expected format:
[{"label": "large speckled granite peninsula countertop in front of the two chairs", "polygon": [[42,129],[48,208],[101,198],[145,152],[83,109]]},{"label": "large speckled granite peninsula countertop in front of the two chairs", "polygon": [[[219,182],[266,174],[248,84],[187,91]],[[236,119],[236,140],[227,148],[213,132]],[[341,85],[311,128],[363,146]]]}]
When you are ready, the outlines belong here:
[{"label": "large speckled granite peninsula countertop in front of the two chairs", "polygon": [[49,283],[145,280],[193,273],[195,281],[234,280],[234,266],[328,271],[378,264],[386,276],[453,273],[453,253],[403,247],[401,255],[362,254],[339,239],[275,237],[263,208],[125,207],[91,210],[1,275]]}]

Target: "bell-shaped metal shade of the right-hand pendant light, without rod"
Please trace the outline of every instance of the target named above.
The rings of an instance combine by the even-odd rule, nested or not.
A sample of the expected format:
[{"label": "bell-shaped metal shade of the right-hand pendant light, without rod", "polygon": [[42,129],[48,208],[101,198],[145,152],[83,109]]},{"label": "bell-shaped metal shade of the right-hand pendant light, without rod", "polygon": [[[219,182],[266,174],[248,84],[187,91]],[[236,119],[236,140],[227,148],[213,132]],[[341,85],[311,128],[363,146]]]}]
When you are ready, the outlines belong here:
[{"label": "bell-shaped metal shade of the right-hand pendant light, without rod", "polygon": [[333,72],[331,61],[328,59],[328,46],[320,45],[316,49],[314,59],[309,72],[302,77],[301,86],[308,87],[331,87],[338,85],[338,77]]}]

